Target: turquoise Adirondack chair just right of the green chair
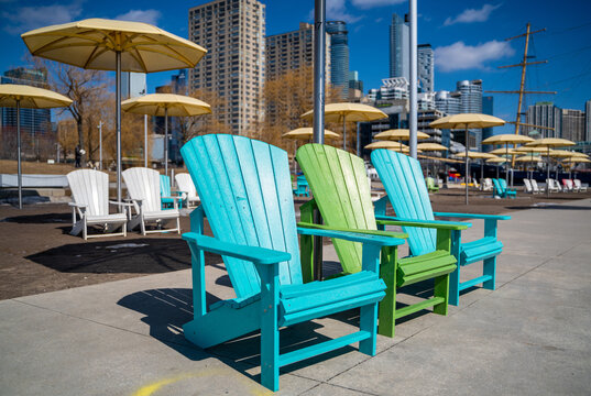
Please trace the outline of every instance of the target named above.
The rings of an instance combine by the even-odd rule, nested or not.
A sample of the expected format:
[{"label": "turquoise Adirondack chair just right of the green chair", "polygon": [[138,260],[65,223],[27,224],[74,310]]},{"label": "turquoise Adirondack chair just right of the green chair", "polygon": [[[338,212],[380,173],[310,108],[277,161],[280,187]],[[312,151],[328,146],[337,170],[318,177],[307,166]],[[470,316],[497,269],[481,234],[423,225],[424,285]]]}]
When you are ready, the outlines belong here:
[{"label": "turquoise Adirondack chair just right of the green chair", "polygon": [[[484,238],[477,241],[461,243],[460,230],[451,231],[451,252],[458,260],[458,268],[450,275],[449,304],[457,306],[460,292],[479,284],[494,290],[496,256],[503,251],[503,243],[496,235],[497,220],[510,220],[511,217],[434,212],[418,161],[388,150],[374,150],[371,158],[387,194],[376,202],[376,212],[381,215],[377,219],[386,218],[384,215],[390,200],[400,220],[433,221],[435,217],[484,220]],[[436,249],[434,231],[412,226],[404,226],[403,230],[408,233],[408,246],[413,255],[426,254]],[[483,275],[460,283],[460,268],[481,261]]]}]

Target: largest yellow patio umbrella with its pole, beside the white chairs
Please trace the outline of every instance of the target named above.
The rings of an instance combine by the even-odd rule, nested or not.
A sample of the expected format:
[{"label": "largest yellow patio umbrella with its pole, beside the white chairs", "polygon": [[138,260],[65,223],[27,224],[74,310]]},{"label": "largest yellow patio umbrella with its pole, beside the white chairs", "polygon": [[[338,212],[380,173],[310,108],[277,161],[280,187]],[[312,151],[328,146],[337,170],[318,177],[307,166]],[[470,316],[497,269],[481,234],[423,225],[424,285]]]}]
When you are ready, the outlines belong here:
[{"label": "largest yellow patio umbrella with its pole, beside the white chairs", "polygon": [[116,72],[117,198],[121,200],[121,72],[193,68],[207,51],[147,23],[107,19],[41,28],[21,37],[34,56]]}]

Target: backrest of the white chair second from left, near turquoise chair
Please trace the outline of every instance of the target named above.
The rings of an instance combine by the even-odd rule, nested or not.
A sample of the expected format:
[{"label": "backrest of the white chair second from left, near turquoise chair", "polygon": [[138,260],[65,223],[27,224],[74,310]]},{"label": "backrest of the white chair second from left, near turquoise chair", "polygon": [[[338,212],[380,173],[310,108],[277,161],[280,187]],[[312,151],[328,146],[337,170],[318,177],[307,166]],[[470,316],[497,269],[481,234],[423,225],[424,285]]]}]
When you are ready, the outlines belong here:
[{"label": "backrest of the white chair second from left, near turquoise chair", "polygon": [[158,211],[161,207],[160,174],[145,167],[132,167],[121,173],[131,199],[142,199],[144,211]]}]

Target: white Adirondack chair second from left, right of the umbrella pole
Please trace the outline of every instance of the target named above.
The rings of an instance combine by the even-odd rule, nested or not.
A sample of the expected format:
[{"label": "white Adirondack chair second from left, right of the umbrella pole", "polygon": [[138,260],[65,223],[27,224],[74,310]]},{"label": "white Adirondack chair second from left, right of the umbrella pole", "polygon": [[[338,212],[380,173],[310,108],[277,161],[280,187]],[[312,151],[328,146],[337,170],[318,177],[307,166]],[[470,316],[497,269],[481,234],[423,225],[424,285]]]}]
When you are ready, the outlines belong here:
[{"label": "white Adirondack chair second from left, right of the umbrella pole", "polygon": [[[142,234],[152,232],[172,232],[180,233],[180,222],[178,220],[178,200],[180,197],[173,198],[174,208],[162,210],[160,196],[160,174],[157,170],[145,167],[133,167],[121,173],[128,195],[133,204],[135,213],[128,224],[130,230],[141,227]],[[171,220],[176,220],[176,228],[164,229],[163,227]],[[157,229],[146,231],[146,223],[155,223]]]}]

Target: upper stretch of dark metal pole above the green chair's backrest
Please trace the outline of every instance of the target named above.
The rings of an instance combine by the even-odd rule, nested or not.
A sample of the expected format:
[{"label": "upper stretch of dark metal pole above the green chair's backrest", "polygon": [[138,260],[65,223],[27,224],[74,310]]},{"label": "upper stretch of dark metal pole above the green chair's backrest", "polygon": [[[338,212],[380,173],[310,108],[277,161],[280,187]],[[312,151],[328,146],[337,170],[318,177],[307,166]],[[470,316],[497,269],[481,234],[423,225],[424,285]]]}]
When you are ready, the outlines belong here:
[{"label": "upper stretch of dark metal pole above the green chair's backrest", "polygon": [[314,4],[314,143],[325,143],[326,0]]}]

